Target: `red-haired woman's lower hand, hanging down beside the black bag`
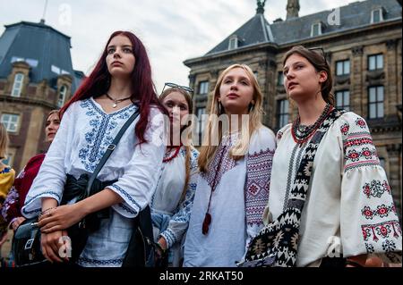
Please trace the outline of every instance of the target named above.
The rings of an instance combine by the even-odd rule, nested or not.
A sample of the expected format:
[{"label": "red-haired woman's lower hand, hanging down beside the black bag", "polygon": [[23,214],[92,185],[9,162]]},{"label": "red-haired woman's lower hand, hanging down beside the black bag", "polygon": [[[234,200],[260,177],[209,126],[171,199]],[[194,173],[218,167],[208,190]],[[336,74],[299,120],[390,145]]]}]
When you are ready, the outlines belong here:
[{"label": "red-haired woman's lower hand, hanging down beside the black bag", "polygon": [[[42,233],[40,237],[40,246],[42,248],[42,254],[47,258],[50,263],[68,261],[68,256],[65,253],[67,249],[71,249],[71,243],[68,239],[62,237],[68,237],[67,231],[53,231],[51,233]],[[62,256],[64,255],[64,256]]]}]

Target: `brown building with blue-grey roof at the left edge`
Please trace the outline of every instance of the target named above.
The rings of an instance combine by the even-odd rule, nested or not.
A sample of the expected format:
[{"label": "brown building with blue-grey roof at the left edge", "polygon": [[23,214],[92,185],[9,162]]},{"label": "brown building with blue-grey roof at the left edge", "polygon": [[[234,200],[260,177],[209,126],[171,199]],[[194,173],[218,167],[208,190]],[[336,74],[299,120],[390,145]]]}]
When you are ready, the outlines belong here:
[{"label": "brown building with blue-grey roof at the left edge", "polygon": [[18,172],[47,149],[47,113],[64,105],[84,74],[74,71],[70,37],[45,24],[6,25],[0,37],[0,122],[10,137],[10,163]]}]

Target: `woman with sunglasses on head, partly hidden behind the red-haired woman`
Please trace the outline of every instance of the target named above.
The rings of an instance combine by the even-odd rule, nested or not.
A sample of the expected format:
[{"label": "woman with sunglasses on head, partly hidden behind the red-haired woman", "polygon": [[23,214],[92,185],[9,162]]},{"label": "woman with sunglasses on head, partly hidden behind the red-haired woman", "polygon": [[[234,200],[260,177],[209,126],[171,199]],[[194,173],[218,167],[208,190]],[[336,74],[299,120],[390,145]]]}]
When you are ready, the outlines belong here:
[{"label": "woman with sunglasses on head, partly hidden behind the red-haired woman", "polygon": [[162,172],[151,200],[151,217],[154,236],[159,247],[168,254],[169,265],[181,266],[183,241],[192,211],[194,191],[198,177],[199,152],[192,144],[192,122],[187,115],[193,113],[190,93],[193,89],[166,83],[168,87],[159,101],[169,115],[169,141]]}]

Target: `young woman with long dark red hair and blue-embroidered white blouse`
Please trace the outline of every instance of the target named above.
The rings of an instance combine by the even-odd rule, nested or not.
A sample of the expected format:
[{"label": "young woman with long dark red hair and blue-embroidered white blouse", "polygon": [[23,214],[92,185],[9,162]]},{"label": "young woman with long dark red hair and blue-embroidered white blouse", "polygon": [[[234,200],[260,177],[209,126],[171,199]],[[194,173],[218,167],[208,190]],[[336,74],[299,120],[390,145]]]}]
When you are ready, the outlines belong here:
[{"label": "young woman with long dark red hair and blue-embroidered white blouse", "polygon": [[[139,109],[140,115],[98,174],[99,183],[106,186],[73,203],[76,197],[67,198],[69,183],[94,172],[116,134]],[[159,178],[156,170],[161,169],[165,153],[165,130],[163,120],[157,119],[165,112],[140,39],[131,32],[114,32],[95,69],[62,108],[56,138],[22,208],[26,217],[41,212],[41,246],[47,260],[63,262],[58,240],[67,235],[66,229],[107,209],[108,216],[90,232],[77,264],[122,266],[133,218],[149,205]],[[64,202],[67,205],[61,205]]]}]

